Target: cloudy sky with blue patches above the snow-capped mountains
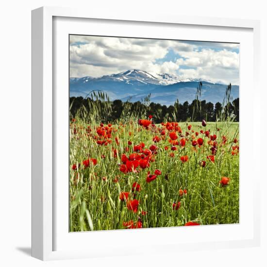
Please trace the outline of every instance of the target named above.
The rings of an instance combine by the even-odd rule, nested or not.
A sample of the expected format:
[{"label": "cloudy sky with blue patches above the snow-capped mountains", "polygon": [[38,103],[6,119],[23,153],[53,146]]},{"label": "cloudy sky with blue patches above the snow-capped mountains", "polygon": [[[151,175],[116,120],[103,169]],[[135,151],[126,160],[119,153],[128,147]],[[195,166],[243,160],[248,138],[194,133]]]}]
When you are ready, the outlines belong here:
[{"label": "cloudy sky with blue patches above the snow-capped mountains", "polygon": [[70,77],[140,69],[239,85],[239,44],[70,35]]}]

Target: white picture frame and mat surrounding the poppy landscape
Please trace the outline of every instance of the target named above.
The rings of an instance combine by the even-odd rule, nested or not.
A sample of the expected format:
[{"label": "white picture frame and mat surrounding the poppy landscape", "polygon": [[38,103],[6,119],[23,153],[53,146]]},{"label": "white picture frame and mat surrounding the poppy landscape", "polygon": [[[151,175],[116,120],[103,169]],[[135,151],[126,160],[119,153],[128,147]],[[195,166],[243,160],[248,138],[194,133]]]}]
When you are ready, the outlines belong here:
[{"label": "white picture frame and mat surrounding the poppy landscape", "polygon": [[[57,21],[59,18],[59,23]],[[60,20],[62,19],[62,21]],[[98,25],[98,21],[101,20],[101,23],[106,24],[114,24],[114,29],[116,27],[116,23],[120,23],[122,26],[120,29],[112,32],[112,27],[110,27],[110,31],[114,34],[118,34],[117,36],[125,36],[125,32],[123,30],[123,25],[127,24],[132,25],[132,35],[134,34],[134,27],[158,27],[158,26],[183,26],[189,27],[188,29],[195,34],[197,40],[200,40],[200,33],[202,31],[204,35],[203,28],[207,28],[208,30],[212,30],[213,32],[221,29],[220,34],[214,34],[212,38],[214,41],[221,40],[221,36],[226,34],[229,31],[228,41],[233,42],[235,40],[236,33],[240,32],[240,38],[242,42],[245,43],[246,38],[250,38],[250,41],[247,42],[247,46],[244,45],[244,53],[243,59],[241,57],[240,66],[241,66],[241,76],[240,76],[240,88],[241,92],[244,88],[244,93],[241,93],[241,107],[240,107],[240,178],[243,178],[243,181],[247,181],[249,171],[252,171],[255,174],[253,176],[253,181],[251,181],[250,188],[253,191],[250,193],[250,203],[247,207],[250,207],[249,217],[247,219],[243,219],[240,221],[239,226],[234,225],[223,225],[223,226],[201,226],[196,228],[183,228],[177,230],[176,228],[163,228],[163,229],[141,229],[141,230],[131,230],[131,231],[99,231],[99,232],[87,232],[87,233],[68,233],[66,232],[66,227],[68,225],[68,221],[66,221],[66,217],[68,216],[66,206],[66,194],[68,195],[68,191],[64,191],[63,194],[58,191],[58,183],[57,183],[57,169],[54,166],[54,161],[58,156],[58,146],[61,145],[59,140],[56,138],[57,134],[60,132],[64,132],[64,124],[62,124],[58,117],[58,107],[68,106],[67,103],[60,103],[57,100],[57,91],[54,90],[56,87],[58,88],[59,84],[66,85],[68,81],[64,80],[66,76],[66,68],[65,72],[58,71],[57,73],[53,73],[53,68],[57,66],[57,64],[64,56],[66,55],[66,48],[62,49],[62,53],[58,52],[58,55],[55,54],[56,50],[56,42],[60,41],[64,42],[64,38],[67,37],[66,27],[70,27],[72,25],[70,22],[71,19],[78,19],[78,24],[80,25],[79,34],[85,31],[85,27],[82,25],[85,23],[84,21],[87,19],[88,21],[94,20],[95,30],[94,34],[97,31],[100,31],[100,26]],[[53,22],[54,21],[54,22]],[[61,22],[60,22],[61,21]],[[60,24],[61,23],[61,24]],[[67,24],[68,23],[68,24]],[[135,24],[134,24],[135,23]],[[53,28],[56,25],[56,30]],[[66,26],[67,25],[67,26]],[[74,25],[74,23],[73,23]],[[147,26],[146,26],[147,25]],[[191,29],[191,28],[192,29]],[[88,28],[88,27],[87,27]],[[197,28],[198,31],[196,30]],[[69,28],[70,29],[70,28]],[[77,29],[77,28],[76,28]],[[152,28],[151,28],[152,29]],[[188,31],[189,31],[188,30]],[[57,32],[56,32],[57,31]],[[61,32],[60,32],[61,31]],[[74,26],[69,33],[75,33],[76,31]],[[93,31],[93,30],[91,30]],[[104,31],[104,30],[103,30]],[[150,34],[153,33],[152,30]],[[159,32],[162,30],[159,30]],[[225,31],[225,33],[223,33]],[[230,33],[232,31],[232,34]],[[55,36],[55,32],[56,35]],[[199,35],[197,35],[197,32]],[[246,34],[242,33],[248,33]],[[120,33],[120,34],[119,34]],[[192,34],[191,33],[191,34]],[[86,34],[88,34],[86,32]],[[139,37],[145,37],[145,33],[139,33]],[[147,33],[148,34],[148,33]],[[163,33],[162,33],[163,34]],[[205,33],[207,34],[207,33]],[[101,35],[101,34],[98,34]],[[221,35],[221,36],[219,36]],[[260,208],[258,203],[260,202],[259,195],[259,182],[260,182],[260,167],[259,162],[255,161],[251,169],[245,169],[249,164],[249,159],[245,157],[249,153],[253,154],[253,158],[256,156],[256,149],[253,147],[260,146],[260,141],[257,138],[254,138],[253,147],[248,147],[247,150],[244,149],[242,151],[242,146],[246,148],[246,143],[242,143],[242,138],[245,140],[246,131],[245,129],[245,118],[250,120],[250,126],[256,127],[259,122],[259,116],[257,114],[260,113],[260,106],[256,102],[257,99],[260,98],[260,88],[259,88],[259,46],[260,46],[260,23],[257,20],[242,20],[242,19],[223,19],[223,18],[210,18],[210,17],[189,17],[189,16],[161,16],[160,14],[155,15],[138,15],[138,14],[121,14],[119,16],[105,13],[96,13],[92,11],[85,11],[83,9],[69,9],[69,8],[56,8],[56,7],[41,7],[32,11],[32,256],[41,260],[54,260],[54,259],[71,259],[71,258],[89,258],[96,256],[111,256],[111,255],[126,255],[126,254],[136,254],[142,253],[142,251],[138,251],[134,249],[134,244],[131,246],[124,246],[117,250],[116,245],[112,248],[112,244],[109,243],[110,240],[119,240],[123,236],[127,238],[133,237],[142,238],[145,236],[145,240],[143,245],[147,246],[147,251],[150,252],[175,252],[177,249],[181,250],[199,250],[199,249],[215,249],[215,248],[236,248],[236,247],[252,247],[258,246],[260,242]],[[59,36],[59,37],[57,37]],[[61,36],[63,36],[61,38]],[[65,36],[65,37],[64,37]],[[158,36],[158,35],[157,35]],[[232,37],[231,37],[232,36]],[[179,36],[177,37],[179,38]],[[241,40],[241,39],[240,39]],[[224,39],[224,41],[227,41]],[[240,53],[242,53],[242,42]],[[68,49],[68,44],[67,49]],[[250,49],[252,49],[250,51]],[[65,50],[65,54],[64,54]],[[248,60],[246,62],[246,53],[248,53]],[[249,55],[250,53],[250,55]],[[68,58],[63,59],[68,61]],[[249,64],[250,63],[250,64]],[[244,66],[243,66],[244,65]],[[248,69],[246,69],[246,67]],[[247,77],[246,71],[251,74],[251,77]],[[62,80],[60,80],[62,78]],[[245,80],[245,79],[248,79]],[[61,81],[65,81],[64,83]],[[248,82],[248,85],[245,85],[245,82]],[[252,86],[253,88],[253,96],[249,98],[246,92],[246,86]],[[64,86],[62,86],[64,87]],[[65,88],[65,87],[64,87]],[[242,96],[243,94],[243,96]],[[68,96],[68,92],[67,92]],[[252,115],[246,114],[246,101],[252,100],[253,102],[253,113]],[[244,108],[242,108],[244,107]],[[64,121],[64,119],[63,119]],[[251,135],[252,134],[252,135]],[[244,137],[242,137],[244,136]],[[250,133],[251,138],[256,136],[256,132]],[[57,140],[58,142],[54,142]],[[66,135],[62,138],[62,142],[66,141]],[[65,142],[66,143],[66,142]],[[65,149],[68,146],[68,143],[64,145]],[[247,145],[248,146],[248,145]],[[57,147],[57,149],[55,149]],[[64,151],[64,150],[63,150]],[[66,151],[66,150],[65,150]],[[244,157],[242,157],[242,153]],[[68,155],[65,155],[65,157]],[[61,166],[60,162],[57,162]],[[64,163],[62,163],[64,166]],[[66,162],[65,162],[66,164]],[[243,167],[242,167],[243,166]],[[244,168],[242,172],[242,168]],[[68,172],[66,169],[65,172]],[[247,174],[245,174],[247,172]],[[242,176],[242,173],[244,174]],[[64,176],[65,177],[65,176]],[[247,178],[246,178],[247,177]],[[68,183],[68,176],[66,177],[66,181]],[[249,181],[249,180],[248,180]],[[248,190],[247,183],[243,183],[240,186],[240,208],[244,207],[246,203],[242,201],[242,196],[244,196],[243,200],[246,197],[246,191]],[[60,182],[61,183],[61,182]],[[63,189],[67,188],[66,184]],[[58,200],[59,199],[59,200]],[[64,199],[65,202],[61,201]],[[59,213],[59,207],[62,207],[63,212]],[[243,213],[244,214],[244,213]],[[60,216],[59,216],[60,215]],[[64,220],[60,220],[59,217],[64,218]],[[245,218],[245,217],[244,217]],[[246,224],[247,223],[247,224]],[[62,226],[61,226],[62,224]],[[63,225],[64,224],[64,225]],[[221,230],[224,227],[224,230]],[[243,227],[243,228],[242,228]],[[60,233],[60,229],[63,229],[62,233]],[[65,231],[65,232],[64,232]],[[155,232],[157,231],[157,232]],[[179,232],[178,232],[179,231]],[[225,232],[224,232],[225,231]],[[230,231],[230,232],[229,232]],[[219,234],[221,232],[221,234]],[[227,234],[224,233],[233,233],[233,238],[229,238]],[[234,235],[234,233],[236,235]],[[90,236],[89,236],[89,235]],[[155,238],[155,234],[158,236],[157,238],[160,242],[157,242]],[[190,242],[184,242],[181,240],[177,240],[175,237],[177,234],[182,236],[190,236]],[[216,240],[216,234],[218,234],[219,239]],[[195,237],[194,237],[195,236]],[[215,236],[215,237],[214,237]],[[77,237],[77,238],[76,238]],[[55,240],[56,238],[56,240]],[[88,245],[84,250],[78,248],[74,250],[71,247],[71,243],[80,242],[81,247],[83,246],[83,242],[87,241],[90,238],[90,242],[94,241],[94,245]],[[205,242],[201,242],[206,238]],[[98,244],[101,244],[102,240],[107,240],[107,244],[102,247],[98,247]],[[59,244],[59,245],[58,245]],[[76,243],[77,244],[77,243]],[[65,245],[65,246],[64,246]],[[84,247],[84,246],[83,246]]]}]

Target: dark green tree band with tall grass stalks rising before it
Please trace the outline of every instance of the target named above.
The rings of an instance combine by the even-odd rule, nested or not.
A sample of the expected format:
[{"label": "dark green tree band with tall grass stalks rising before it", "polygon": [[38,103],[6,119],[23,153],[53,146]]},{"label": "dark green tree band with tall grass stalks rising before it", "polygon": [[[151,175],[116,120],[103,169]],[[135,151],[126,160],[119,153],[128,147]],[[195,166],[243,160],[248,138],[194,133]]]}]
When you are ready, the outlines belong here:
[{"label": "dark green tree band with tall grass stalks rising before it", "polygon": [[[232,100],[231,83],[226,87],[223,103],[215,105],[206,100],[201,100],[202,83],[196,90],[195,100],[189,104],[185,101],[179,103],[177,99],[173,105],[166,106],[150,102],[150,94],[141,101],[131,102],[131,98],[122,102],[121,100],[110,101],[108,96],[101,91],[92,91],[90,97],[70,98],[70,117],[87,117],[105,123],[130,118],[141,118],[153,116],[155,123],[162,121],[224,121],[226,119],[239,121],[239,98]],[[95,114],[96,117],[90,117]]]}]

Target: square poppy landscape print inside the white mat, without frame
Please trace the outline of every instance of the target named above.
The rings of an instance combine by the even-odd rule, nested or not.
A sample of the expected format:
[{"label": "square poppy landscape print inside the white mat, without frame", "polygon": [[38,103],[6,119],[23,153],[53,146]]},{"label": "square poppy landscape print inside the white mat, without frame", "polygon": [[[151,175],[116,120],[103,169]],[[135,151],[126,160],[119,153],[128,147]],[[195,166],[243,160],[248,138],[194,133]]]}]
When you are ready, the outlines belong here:
[{"label": "square poppy landscape print inside the white mat, without frame", "polygon": [[69,34],[69,232],[240,223],[239,45]]}]

